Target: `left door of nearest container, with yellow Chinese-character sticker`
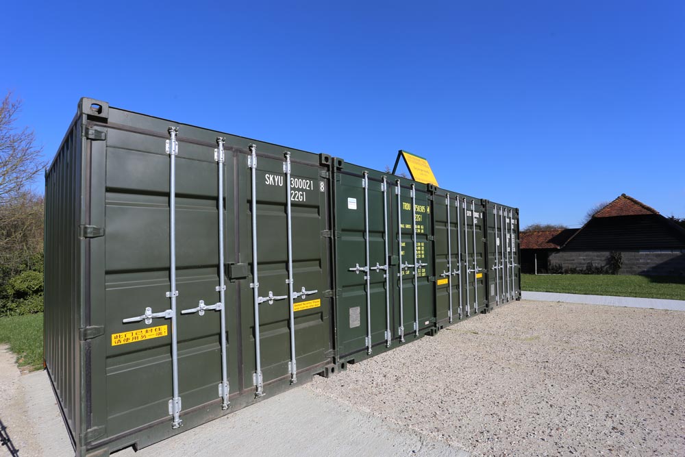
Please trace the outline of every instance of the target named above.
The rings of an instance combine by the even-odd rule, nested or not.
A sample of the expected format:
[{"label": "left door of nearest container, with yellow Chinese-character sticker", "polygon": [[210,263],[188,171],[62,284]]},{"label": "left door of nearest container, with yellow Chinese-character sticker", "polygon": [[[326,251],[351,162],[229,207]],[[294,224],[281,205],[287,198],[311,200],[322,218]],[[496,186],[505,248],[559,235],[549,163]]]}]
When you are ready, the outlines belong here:
[{"label": "left door of nearest container, with yellow Chinese-character sticker", "polygon": [[[105,236],[104,255],[94,252],[91,266],[92,275],[101,277],[104,293],[93,288],[90,314],[92,325],[105,325],[107,339],[90,354],[89,407],[91,428],[105,426],[106,434],[114,436],[160,419],[173,419],[173,325],[170,315],[165,315],[171,308],[171,296],[177,293],[176,375],[181,414],[217,402],[222,338],[221,312],[198,312],[201,303],[212,306],[219,301],[216,136],[182,126],[177,147],[172,142],[169,148],[168,121],[110,110],[109,122],[119,126],[106,128],[105,159],[94,156],[92,164],[94,222],[103,218]],[[175,173],[171,173],[172,154]],[[232,164],[227,163],[224,181],[232,175]],[[222,197],[229,205],[233,201],[231,190]],[[170,282],[172,198],[175,291]],[[99,216],[98,203],[102,208]],[[227,232],[224,254],[230,259],[234,251]],[[227,284],[226,295],[235,295],[233,284]],[[235,305],[227,300],[229,315],[234,314]],[[233,336],[229,348],[237,345],[232,327],[234,323],[229,322],[228,333]],[[234,357],[229,359],[229,378],[236,385],[237,364]]]}]

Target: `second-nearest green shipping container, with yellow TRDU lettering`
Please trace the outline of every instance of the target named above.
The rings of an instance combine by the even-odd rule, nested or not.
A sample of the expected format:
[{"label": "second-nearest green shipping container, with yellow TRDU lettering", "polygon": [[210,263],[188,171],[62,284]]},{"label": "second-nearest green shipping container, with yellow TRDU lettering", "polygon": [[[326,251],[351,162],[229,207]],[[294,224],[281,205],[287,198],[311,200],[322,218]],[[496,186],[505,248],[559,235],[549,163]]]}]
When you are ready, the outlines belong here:
[{"label": "second-nearest green shipping container, with yellow TRDU lettering", "polygon": [[435,330],[430,192],[334,160],[336,348],[359,362]]}]

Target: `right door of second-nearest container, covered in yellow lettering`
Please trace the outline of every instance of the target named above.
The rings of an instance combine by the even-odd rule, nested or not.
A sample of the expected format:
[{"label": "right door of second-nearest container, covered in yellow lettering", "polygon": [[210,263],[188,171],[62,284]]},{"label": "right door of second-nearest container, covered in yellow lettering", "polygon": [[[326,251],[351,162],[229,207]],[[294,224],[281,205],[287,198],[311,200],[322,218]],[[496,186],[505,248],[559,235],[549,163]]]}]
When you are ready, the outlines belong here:
[{"label": "right door of second-nearest container, covered in yellow lettering", "polygon": [[390,276],[395,278],[399,298],[395,317],[404,338],[414,338],[433,328],[436,321],[432,214],[425,190],[399,180],[393,187],[393,238],[399,251],[399,267]]}]

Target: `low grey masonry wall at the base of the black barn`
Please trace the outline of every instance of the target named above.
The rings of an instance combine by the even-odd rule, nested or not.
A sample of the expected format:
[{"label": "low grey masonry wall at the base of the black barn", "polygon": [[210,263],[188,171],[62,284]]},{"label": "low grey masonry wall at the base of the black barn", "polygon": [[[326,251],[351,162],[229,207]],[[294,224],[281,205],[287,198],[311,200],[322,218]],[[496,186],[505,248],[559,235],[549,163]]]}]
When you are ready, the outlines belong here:
[{"label": "low grey masonry wall at the base of the black barn", "polygon": [[[564,269],[584,269],[588,263],[608,264],[610,251],[560,251],[550,254],[549,264],[560,264]],[[621,275],[685,276],[685,250],[676,251],[621,251]]]}]

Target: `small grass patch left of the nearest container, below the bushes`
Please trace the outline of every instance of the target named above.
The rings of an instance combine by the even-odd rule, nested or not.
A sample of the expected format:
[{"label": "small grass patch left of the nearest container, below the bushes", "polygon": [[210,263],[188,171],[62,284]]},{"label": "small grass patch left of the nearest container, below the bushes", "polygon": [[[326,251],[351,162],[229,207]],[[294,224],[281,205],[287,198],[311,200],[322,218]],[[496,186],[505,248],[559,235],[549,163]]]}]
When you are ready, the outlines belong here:
[{"label": "small grass patch left of the nearest container, below the bushes", "polygon": [[10,345],[19,367],[42,369],[42,312],[0,317],[0,344]]}]

